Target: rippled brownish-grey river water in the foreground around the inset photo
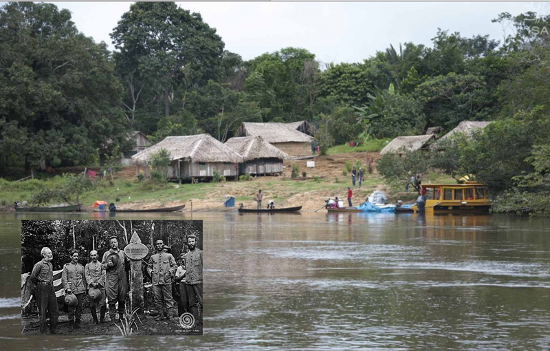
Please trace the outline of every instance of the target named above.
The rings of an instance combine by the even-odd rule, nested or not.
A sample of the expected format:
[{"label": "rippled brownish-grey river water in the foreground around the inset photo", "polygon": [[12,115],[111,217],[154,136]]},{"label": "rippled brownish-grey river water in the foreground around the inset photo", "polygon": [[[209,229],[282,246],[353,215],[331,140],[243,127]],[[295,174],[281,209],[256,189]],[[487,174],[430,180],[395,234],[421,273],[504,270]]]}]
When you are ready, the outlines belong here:
[{"label": "rippled brownish-grey river water in the foreground around the inset photo", "polygon": [[98,215],[0,213],[3,350],[550,348],[550,220],[504,215],[117,214],[204,221],[204,335],[21,337],[21,220]]}]

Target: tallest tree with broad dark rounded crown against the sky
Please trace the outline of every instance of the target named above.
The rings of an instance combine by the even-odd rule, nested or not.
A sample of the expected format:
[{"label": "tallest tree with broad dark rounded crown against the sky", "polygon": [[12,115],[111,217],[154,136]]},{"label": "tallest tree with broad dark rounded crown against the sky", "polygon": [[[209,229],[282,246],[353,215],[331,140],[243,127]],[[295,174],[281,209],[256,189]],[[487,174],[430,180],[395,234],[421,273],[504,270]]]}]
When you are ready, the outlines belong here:
[{"label": "tallest tree with broad dark rounded crown against the sky", "polygon": [[124,103],[130,114],[143,87],[151,89],[147,100],[162,100],[164,116],[169,116],[178,85],[201,85],[221,73],[221,37],[200,14],[172,2],[134,3],[111,39],[120,50],[117,63],[127,83]]}]

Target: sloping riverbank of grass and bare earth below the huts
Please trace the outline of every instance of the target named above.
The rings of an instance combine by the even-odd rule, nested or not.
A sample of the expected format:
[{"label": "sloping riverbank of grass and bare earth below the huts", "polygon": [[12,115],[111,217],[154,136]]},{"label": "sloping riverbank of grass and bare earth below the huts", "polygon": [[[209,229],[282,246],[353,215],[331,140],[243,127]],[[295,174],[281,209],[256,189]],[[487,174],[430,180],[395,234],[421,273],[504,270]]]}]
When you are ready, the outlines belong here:
[{"label": "sloping riverbank of grass and bare earth below the huts", "polygon": [[[374,161],[380,158],[380,153],[369,152],[369,157]],[[384,183],[378,175],[375,167],[373,173],[365,171],[364,182],[359,187],[351,184],[351,175],[343,175],[345,163],[355,164],[357,160],[362,161],[363,169],[366,153],[342,153],[338,155],[327,155],[315,158],[314,169],[307,168],[308,160],[296,160],[285,162],[285,175],[283,176],[258,176],[248,181],[227,181],[220,183],[198,183],[198,184],[176,184],[158,183],[151,180],[138,182],[133,167],[126,167],[123,171],[114,175],[112,182],[102,180],[93,191],[80,196],[80,202],[85,209],[91,210],[91,205],[96,200],[107,203],[115,202],[119,209],[152,209],[156,207],[171,207],[185,204],[185,212],[208,212],[208,211],[236,211],[235,207],[223,207],[225,195],[234,196],[236,204],[243,203],[247,208],[254,208],[256,202],[253,198],[255,193],[261,189],[264,193],[263,199],[274,200],[276,208],[287,206],[303,206],[302,211],[316,211],[325,204],[328,198],[347,197],[347,187],[353,191],[353,204],[361,204],[373,191],[380,190],[386,194],[388,202],[401,200],[404,203],[414,202],[417,198],[415,191],[404,192],[404,189],[391,187]],[[292,164],[296,163],[300,169],[300,176],[306,172],[306,177],[290,178]],[[78,171],[77,169],[74,170]],[[424,175],[424,182],[452,182],[444,175],[433,173]],[[10,182],[10,186],[4,185],[2,198],[3,206],[0,211],[14,211],[14,201],[30,200],[30,192],[23,191],[23,182]],[[36,191],[41,184],[36,185],[32,180]],[[43,187],[49,186],[48,180],[43,180]],[[116,199],[119,199],[117,202]]]}]

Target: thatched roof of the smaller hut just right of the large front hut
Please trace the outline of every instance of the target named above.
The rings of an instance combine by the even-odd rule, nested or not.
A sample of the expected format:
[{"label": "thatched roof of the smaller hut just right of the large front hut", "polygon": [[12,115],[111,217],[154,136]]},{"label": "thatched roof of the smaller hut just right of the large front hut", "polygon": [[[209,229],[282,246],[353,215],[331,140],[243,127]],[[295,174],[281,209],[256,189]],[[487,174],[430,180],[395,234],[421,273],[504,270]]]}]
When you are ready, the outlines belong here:
[{"label": "thatched roof of the smaller hut just right of the large front hut", "polygon": [[231,138],[225,142],[236,153],[243,156],[243,160],[250,161],[258,158],[278,158],[279,160],[290,160],[287,153],[277,149],[261,136],[243,136]]}]

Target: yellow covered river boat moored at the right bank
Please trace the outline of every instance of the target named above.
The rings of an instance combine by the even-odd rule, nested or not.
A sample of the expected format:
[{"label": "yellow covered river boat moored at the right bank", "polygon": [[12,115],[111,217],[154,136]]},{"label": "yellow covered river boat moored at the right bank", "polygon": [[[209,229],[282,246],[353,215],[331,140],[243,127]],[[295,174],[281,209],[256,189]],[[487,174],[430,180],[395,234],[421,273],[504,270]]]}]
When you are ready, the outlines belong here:
[{"label": "yellow covered river boat moored at the right bank", "polygon": [[[426,213],[481,213],[492,204],[485,185],[478,182],[422,184],[421,193],[426,194]],[[417,211],[416,205],[411,208]]]}]

